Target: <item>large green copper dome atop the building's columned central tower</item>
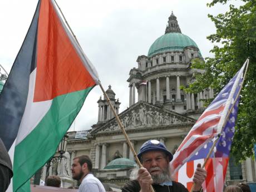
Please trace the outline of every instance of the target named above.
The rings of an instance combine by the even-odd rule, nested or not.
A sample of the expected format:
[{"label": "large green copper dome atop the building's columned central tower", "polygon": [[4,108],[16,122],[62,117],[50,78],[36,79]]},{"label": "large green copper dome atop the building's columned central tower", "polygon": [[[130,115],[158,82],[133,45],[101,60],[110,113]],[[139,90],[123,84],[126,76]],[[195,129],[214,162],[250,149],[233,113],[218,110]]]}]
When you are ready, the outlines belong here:
[{"label": "large green copper dome atop the building's columned central tower", "polygon": [[198,48],[196,43],[191,40],[190,37],[182,33],[170,32],[157,38],[157,40],[149,48],[149,53],[147,54],[147,56],[151,57],[157,53],[162,53],[166,51],[183,51],[184,48],[187,46],[195,46]]}]

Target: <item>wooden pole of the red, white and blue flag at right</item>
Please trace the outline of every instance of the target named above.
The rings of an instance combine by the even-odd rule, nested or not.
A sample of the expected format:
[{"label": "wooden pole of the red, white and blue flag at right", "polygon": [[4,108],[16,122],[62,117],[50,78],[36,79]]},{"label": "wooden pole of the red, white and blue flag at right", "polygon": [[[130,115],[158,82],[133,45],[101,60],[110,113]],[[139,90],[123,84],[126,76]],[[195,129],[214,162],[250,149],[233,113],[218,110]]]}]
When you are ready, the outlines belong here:
[{"label": "wooden pole of the red, white and blue flag at right", "polygon": [[[220,139],[221,132],[223,131],[224,127],[226,126],[226,124],[227,124],[227,122],[228,122],[228,120],[229,120],[229,115],[231,114],[231,112],[232,112],[232,110],[233,110],[233,108],[234,108],[234,106],[235,106],[235,103],[237,102],[237,100],[238,100],[238,98],[239,98],[240,92],[241,92],[241,90],[242,90],[242,88],[243,88],[243,84],[244,84],[244,80],[245,80],[245,75],[246,75],[246,73],[247,73],[248,66],[249,66],[249,58],[247,58],[247,60],[246,60],[245,62],[247,62],[247,63],[246,63],[247,66],[246,66],[246,68],[245,68],[245,72],[244,72],[244,77],[243,77],[242,85],[241,85],[241,87],[240,87],[240,89],[239,89],[239,91],[238,91],[237,97],[235,97],[235,100],[234,100],[234,103],[233,103],[232,107],[231,107],[230,110],[228,111],[228,115],[227,115],[226,118],[225,118],[225,121],[224,121],[224,123],[223,123],[223,125],[222,125],[222,127],[221,127],[220,133],[218,134],[217,138],[216,138],[215,141],[213,142],[213,146],[211,146],[210,151],[208,152],[208,155],[206,156],[206,159],[204,160],[204,164],[203,164],[203,166],[202,166],[203,169],[204,169],[206,163],[208,162],[209,157],[210,157],[211,153],[213,152],[213,149],[214,149],[216,143],[217,143],[217,142],[219,141],[219,139]],[[195,187],[195,183],[193,183],[192,188],[190,189],[190,192],[193,192],[194,187]]]}]

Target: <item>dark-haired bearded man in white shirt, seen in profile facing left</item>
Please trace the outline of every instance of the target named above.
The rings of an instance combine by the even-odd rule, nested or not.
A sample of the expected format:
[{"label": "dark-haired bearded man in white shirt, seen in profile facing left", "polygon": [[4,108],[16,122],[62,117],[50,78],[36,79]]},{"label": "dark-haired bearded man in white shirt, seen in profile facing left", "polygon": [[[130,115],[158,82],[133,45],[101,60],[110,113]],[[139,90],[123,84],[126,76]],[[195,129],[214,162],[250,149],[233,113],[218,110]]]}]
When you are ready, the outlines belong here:
[{"label": "dark-haired bearded man in white shirt, seen in profile facing left", "polygon": [[71,166],[72,178],[80,181],[78,192],[106,192],[101,181],[92,175],[92,161],[87,155],[77,156]]}]

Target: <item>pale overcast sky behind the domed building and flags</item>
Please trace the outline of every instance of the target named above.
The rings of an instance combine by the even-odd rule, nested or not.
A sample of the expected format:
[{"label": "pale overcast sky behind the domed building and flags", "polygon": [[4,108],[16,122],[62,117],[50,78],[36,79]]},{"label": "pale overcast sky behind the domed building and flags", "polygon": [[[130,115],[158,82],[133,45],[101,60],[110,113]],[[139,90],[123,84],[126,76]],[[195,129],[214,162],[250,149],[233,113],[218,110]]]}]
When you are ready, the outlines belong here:
[{"label": "pale overcast sky behind the domed building and flags", "polygon": [[[129,71],[137,67],[137,56],[147,55],[156,38],[164,35],[171,11],[178,19],[181,32],[192,38],[203,57],[213,47],[206,36],[215,32],[208,13],[218,14],[227,5],[206,7],[207,0],[57,0],[77,36],[83,51],[99,73],[102,85],[119,98],[120,111],[129,106]],[[230,1],[240,5],[239,1]],[[12,63],[26,36],[36,9],[36,0],[0,2],[0,64],[11,70]],[[97,100],[102,92],[97,86],[88,95],[70,130],[91,129],[98,115]]]}]

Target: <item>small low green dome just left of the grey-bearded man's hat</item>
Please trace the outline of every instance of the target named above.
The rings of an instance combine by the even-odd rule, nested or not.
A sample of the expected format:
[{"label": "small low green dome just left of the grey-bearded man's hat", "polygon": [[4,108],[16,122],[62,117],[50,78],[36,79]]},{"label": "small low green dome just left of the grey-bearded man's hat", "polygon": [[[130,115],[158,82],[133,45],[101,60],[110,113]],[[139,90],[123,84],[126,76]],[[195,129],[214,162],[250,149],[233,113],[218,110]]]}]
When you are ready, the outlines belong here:
[{"label": "small low green dome just left of the grey-bearded man's hat", "polygon": [[110,161],[104,169],[125,169],[125,168],[136,168],[137,164],[134,161],[126,158],[118,158]]}]

